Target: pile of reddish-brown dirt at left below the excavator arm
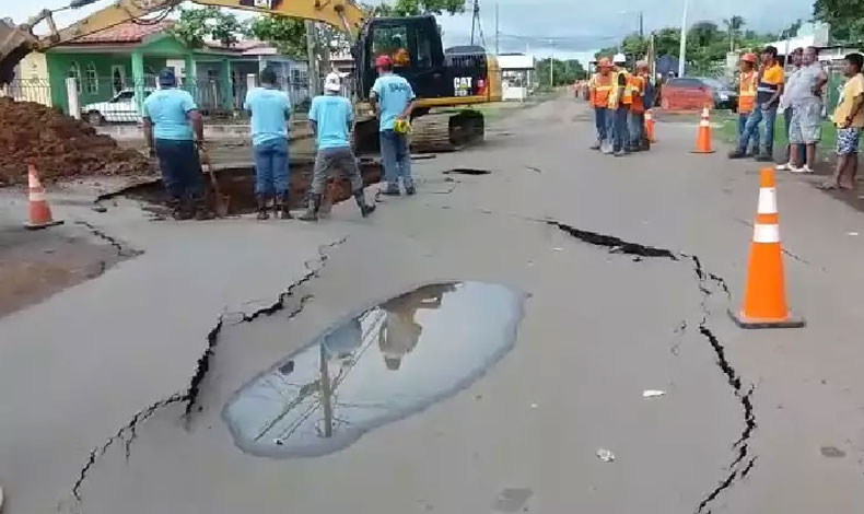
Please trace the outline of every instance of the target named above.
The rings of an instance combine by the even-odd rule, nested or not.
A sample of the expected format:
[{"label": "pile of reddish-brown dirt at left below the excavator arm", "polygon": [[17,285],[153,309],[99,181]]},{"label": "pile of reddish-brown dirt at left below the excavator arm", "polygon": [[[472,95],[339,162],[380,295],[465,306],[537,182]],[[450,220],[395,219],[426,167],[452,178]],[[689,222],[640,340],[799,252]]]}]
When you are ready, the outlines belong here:
[{"label": "pile of reddish-brown dirt at left below the excavator arm", "polygon": [[0,97],[0,186],[27,183],[33,162],[43,182],[81,175],[151,175],[150,161],[90,125],[33,102]]}]

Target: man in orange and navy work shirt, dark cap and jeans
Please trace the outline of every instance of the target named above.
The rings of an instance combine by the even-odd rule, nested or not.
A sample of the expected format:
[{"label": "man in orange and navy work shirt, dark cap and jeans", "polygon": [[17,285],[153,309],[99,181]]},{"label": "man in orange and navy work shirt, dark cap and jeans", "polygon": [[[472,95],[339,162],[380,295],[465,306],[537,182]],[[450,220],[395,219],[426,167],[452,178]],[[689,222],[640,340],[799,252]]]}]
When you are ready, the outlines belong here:
[{"label": "man in orange and navy work shirt, dark cap and jeans", "polygon": [[759,130],[759,124],[764,119],[764,138],[762,139],[762,152],[756,160],[760,162],[773,161],[774,151],[774,121],[777,120],[777,108],[780,95],[783,94],[783,67],[777,59],[777,48],[767,46],[762,50],[762,66],[759,68],[759,86],[756,92],[756,107],[747,118],[738,141],[738,148],[729,153],[729,159],[742,159],[747,155],[746,144],[754,132]]}]

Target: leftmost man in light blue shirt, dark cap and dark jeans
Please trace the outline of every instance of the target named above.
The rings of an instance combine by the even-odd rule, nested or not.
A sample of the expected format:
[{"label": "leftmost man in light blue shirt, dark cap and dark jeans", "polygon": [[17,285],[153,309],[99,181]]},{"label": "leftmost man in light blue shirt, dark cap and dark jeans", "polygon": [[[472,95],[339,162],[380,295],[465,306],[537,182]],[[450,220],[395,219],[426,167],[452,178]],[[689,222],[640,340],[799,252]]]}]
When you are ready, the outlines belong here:
[{"label": "leftmost man in light blue shirt, dark cap and dark jeans", "polygon": [[[143,104],[143,129],[151,155],[159,157],[162,182],[177,220],[213,218],[207,208],[198,149],[203,147],[203,121],[192,96],[177,89],[174,71],[159,73],[159,91]],[[184,202],[190,199],[191,209]]]}]

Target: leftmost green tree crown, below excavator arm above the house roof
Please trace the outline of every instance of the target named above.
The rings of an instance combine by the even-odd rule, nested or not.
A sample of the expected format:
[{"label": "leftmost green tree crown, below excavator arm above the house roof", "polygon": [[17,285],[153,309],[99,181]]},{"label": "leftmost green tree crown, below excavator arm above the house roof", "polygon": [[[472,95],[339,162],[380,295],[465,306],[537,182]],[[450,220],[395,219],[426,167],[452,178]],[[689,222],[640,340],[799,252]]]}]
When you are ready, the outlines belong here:
[{"label": "leftmost green tree crown, below excavator arm above the house roof", "polygon": [[224,46],[240,40],[245,27],[231,12],[222,12],[218,8],[183,9],[177,22],[168,32],[189,48],[200,48],[206,38],[211,38]]}]

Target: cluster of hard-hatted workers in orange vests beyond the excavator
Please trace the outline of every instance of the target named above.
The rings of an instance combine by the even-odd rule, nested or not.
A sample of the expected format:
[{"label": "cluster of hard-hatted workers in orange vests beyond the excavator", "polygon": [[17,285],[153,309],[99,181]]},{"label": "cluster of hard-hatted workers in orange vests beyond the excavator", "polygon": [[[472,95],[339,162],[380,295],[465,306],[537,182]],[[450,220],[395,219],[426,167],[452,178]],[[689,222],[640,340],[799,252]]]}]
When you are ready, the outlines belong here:
[{"label": "cluster of hard-hatted workers in orange vests beyond the excavator", "polygon": [[646,61],[637,62],[631,73],[622,55],[614,60],[599,59],[588,81],[588,103],[597,127],[597,141],[591,148],[623,156],[650,149],[645,110],[652,107],[654,95]]}]

